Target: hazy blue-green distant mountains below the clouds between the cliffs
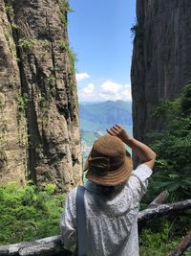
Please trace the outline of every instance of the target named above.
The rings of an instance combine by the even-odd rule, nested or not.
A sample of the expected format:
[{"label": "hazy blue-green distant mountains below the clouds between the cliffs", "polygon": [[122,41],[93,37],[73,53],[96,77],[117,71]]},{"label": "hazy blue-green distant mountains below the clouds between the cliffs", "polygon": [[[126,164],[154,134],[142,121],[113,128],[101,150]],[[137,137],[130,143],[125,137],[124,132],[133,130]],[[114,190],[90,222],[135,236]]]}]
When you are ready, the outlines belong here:
[{"label": "hazy blue-green distant mountains below the clouds between the cliffs", "polygon": [[107,101],[79,104],[80,127],[86,131],[104,131],[115,124],[120,124],[132,131],[132,103]]}]

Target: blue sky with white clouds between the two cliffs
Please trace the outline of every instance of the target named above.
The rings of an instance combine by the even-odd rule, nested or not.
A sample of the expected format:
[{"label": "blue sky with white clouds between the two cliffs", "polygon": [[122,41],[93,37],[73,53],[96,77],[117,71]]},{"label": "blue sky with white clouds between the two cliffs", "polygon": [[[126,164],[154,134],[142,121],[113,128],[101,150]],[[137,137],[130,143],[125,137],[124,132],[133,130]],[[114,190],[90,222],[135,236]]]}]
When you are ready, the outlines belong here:
[{"label": "blue sky with white clouds between the two cliffs", "polygon": [[79,102],[131,101],[136,0],[70,0],[69,40]]}]

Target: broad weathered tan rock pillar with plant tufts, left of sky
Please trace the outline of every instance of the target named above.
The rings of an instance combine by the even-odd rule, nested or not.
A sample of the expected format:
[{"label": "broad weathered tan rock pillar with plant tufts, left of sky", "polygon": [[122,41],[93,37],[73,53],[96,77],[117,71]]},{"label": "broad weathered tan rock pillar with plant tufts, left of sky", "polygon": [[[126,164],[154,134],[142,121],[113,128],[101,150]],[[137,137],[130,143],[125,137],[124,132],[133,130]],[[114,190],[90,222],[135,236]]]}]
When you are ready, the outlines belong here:
[{"label": "broad weathered tan rock pillar with plant tufts, left of sky", "polygon": [[[67,191],[81,176],[74,55],[67,35],[68,2],[0,1],[2,22],[8,23],[7,36],[15,50],[11,57],[11,53],[5,53],[11,64],[0,65],[8,77],[12,72],[16,74],[14,87],[18,92],[10,89],[14,110],[10,107],[8,114],[14,115],[15,132],[22,129],[23,137],[27,138],[23,143],[23,165],[36,183],[54,183],[58,190]],[[1,33],[6,36],[5,31]],[[5,47],[0,51],[5,51]],[[17,139],[15,135],[15,144],[20,149]],[[1,169],[2,175],[6,172]],[[24,174],[24,168],[20,173]]]}]

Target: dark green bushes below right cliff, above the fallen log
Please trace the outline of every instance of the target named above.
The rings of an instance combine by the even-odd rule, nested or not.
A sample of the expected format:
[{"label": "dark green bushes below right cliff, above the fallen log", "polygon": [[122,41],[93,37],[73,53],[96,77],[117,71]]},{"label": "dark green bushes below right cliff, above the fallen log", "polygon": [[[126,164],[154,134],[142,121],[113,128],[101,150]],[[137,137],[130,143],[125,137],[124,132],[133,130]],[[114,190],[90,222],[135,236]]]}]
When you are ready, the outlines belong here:
[{"label": "dark green bushes below right cliff, above the fallen log", "polygon": [[[179,200],[191,195],[191,84],[184,87],[180,97],[173,102],[162,102],[155,111],[162,116],[165,128],[150,134],[157,152],[157,172],[150,183],[150,198],[167,189],[172,198]],[[156,121],[157,122],[157,121]]]}]

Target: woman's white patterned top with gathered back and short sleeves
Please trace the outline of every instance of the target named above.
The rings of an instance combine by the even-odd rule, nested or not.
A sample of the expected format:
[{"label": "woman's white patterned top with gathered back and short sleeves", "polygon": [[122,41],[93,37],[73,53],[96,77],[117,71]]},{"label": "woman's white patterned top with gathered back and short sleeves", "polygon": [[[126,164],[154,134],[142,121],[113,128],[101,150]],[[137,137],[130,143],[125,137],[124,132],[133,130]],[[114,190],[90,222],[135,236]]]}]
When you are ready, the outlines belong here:
[{"label": "woman's white patterned top with gathered back and short sleeves", "polygon": [[[138,256],[138,208],[152,170],[141,164],[122,191],[113,198],[96,193],[96,184],[84,187],[88,256]],[[61,237],[66,247],[76,244],[76,188],[66,200]]]}]

